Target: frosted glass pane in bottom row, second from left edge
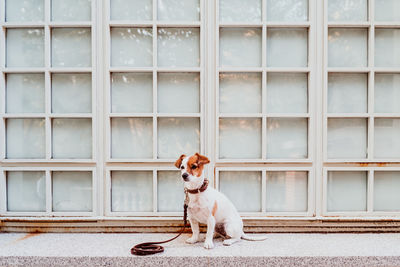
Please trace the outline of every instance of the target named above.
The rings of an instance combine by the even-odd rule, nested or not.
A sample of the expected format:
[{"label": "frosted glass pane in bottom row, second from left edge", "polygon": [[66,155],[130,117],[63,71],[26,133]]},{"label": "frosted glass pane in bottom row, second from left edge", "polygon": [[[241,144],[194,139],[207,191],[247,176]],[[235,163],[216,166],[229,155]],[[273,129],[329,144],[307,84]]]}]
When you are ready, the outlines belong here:
[{"label": "frosted glass pane in bottom row, second from left edge", "polygon": [[52,172],[53,211],[92,211],[92,173]]}]

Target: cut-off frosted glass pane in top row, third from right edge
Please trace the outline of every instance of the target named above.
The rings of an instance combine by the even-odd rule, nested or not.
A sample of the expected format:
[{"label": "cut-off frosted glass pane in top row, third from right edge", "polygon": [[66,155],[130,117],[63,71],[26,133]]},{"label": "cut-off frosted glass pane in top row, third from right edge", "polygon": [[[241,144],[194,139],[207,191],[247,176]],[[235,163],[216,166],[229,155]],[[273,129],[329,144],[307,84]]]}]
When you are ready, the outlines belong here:
[{"label": "cut-off frosted glass pane in top row, third from right edge", "polygon": [[267,0],[268,21],[307,21],[308,0]]}]

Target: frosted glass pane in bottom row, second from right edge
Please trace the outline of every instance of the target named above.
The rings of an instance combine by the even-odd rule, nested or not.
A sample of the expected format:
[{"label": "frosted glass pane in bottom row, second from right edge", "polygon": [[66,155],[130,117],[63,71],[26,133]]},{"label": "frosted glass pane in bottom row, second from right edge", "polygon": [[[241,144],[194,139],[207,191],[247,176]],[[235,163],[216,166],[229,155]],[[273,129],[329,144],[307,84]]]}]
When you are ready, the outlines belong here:
[{"label": "frosted glass pane in bottom row, second from right edge", "polygon": [[367,210],[367,172],[328,172],[328,211]]}]

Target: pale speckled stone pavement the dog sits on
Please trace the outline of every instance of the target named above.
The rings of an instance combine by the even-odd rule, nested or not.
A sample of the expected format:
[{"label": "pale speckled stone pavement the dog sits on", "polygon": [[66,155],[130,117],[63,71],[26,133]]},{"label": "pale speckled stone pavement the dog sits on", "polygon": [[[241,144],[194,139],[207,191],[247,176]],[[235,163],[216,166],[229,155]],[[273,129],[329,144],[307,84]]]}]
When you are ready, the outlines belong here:
[{"label": "pale speckled stone pavement the dog sits on", "polygon": [[231,247],[189,245],[185,234],[165,252],[132,256],[137,243],[173,234],[0,233],[0,266],[400,266],[400,234],[268,234]]}]

